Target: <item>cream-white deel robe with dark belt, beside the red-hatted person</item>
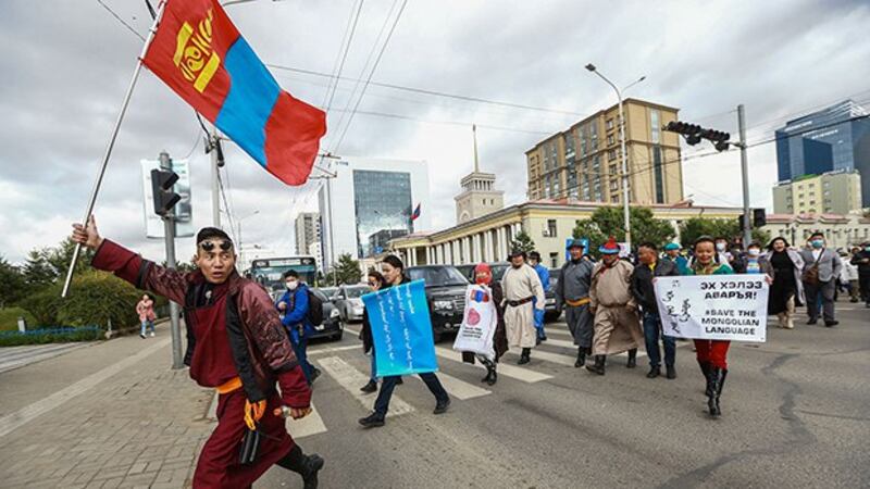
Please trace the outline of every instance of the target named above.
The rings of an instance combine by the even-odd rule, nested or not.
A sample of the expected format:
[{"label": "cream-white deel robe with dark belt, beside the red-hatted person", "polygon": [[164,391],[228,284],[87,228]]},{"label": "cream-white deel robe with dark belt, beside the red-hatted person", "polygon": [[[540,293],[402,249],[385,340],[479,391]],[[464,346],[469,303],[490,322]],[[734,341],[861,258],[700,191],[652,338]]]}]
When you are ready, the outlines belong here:
[{"label": "cream-white deel robe with dark belt, beside the red-hatted person", "polygon": [[537,331],[534,308],[544,311],[546,300],[537,273],[525,264],[519,268],[511,266],[501,278],[501,288],[505,290],[505,327],[508,344],[535,348]]}]

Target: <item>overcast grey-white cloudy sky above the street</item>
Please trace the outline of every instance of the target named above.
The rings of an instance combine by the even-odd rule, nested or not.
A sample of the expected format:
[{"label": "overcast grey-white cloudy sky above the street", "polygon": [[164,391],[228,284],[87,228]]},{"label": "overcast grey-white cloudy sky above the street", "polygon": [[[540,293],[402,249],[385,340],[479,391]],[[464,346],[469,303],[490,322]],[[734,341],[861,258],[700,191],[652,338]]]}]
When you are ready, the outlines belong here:
[{"label": "overcast grey-white cloudy sky above the street", "polygon": [[[102,0],[139,34],[144,1]],[[343,75],[359,78],[385,22],[401,1],[365,0]],[[258,0],[227,8],[270,64],[333,73],[356,0]],[[391,16],[388,16],[390,15]],[[523,152],[547,134],[616,102],[583,66],[646,82],[632,97],[681,109],[681,118],[736,134],[744,103],[748,139],[846,98],[870,105],[870,7],[866,1],[588,2],[410,0],[373,80],[505,101],[511,109],[370,86],[340,146],[356,83],[341,82],[324,147],[336,154],[425,160],[433,224],[453,224],[452,197],[471,170],[471,124],[482,166],[498,175],[509,203],[525,196]],[[382,38],[383,39],[383,38]],[[141,41],[97,0],[0,2],[0,254],[21,262],[52,246],[82,218],[99,160]],[[376,54],[376,51],[375,51]],[[330,78],[272,70],[296,97],[325,106]],[[373,115],[391,114],[393,116]],[[344,116],[344,120],[343,120]],[[144,236],[139,161],[161,150],[189,155],[197,226],[211,222],[209,159],[192,111],[151,73],[139,79],[99,197],[104,236],[161,258]],[[198,143],[199,142],[199,143]],[[686,148],[684,154],[709,151]],[[291,220],[316,206],[316,187],[291,189],[232,143],[228,203],[244,241],[290,252]],[[770,205],[773,145],[749,152],[751,203]],[[741,204],[739,156],[689,159],[685,193],[698,203]],[[179,256],[192,250],[178,242]]]}]

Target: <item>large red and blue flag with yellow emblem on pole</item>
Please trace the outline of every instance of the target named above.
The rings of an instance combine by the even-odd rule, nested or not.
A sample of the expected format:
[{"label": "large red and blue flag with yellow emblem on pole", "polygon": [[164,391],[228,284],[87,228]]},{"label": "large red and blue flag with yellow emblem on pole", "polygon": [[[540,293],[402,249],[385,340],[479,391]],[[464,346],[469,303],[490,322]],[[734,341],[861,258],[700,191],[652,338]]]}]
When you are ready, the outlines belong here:
[{"label": "large red and blue flag with yellow emblem on pole", "polygon": [[269,173],[306,183],[326,114],[281,89],[217,0],[166,0],[142,63]]}]

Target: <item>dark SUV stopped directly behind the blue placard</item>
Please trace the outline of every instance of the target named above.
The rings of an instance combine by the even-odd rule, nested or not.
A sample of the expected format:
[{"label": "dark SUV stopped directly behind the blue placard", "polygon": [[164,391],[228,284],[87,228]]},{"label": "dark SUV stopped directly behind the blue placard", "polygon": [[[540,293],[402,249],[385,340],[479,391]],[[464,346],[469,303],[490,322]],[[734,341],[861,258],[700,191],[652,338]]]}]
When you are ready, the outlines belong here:
[{"label": "dark SUV stopped directly behind the blue placard", "polygon": [[451,265],[412,266],[406,272],[411,280],[426,283],[426,301],[435,341],[440,341],[445,333],[459,330],[465,313],[469,280]]}]

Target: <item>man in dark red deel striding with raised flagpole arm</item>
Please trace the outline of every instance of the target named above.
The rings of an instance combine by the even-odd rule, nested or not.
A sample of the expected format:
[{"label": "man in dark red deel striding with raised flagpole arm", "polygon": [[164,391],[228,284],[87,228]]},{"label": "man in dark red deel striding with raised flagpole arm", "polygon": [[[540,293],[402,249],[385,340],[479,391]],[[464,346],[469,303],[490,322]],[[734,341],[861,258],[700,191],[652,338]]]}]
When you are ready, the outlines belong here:
[{"label": "man in dark red deel striding with raised flagpole arm", "polygon": [[[101,238],[92,217],[87,227],[73,225],[73,240],[97,250],[95,268],[184,306],[190,378],[220,394],[217,427],[202,447],[194,487],[250,487],[278,464],[301,475],[306,489],[316,488],[323,459],[302,454],[285,428],[285,416],[298,419],[311,412],[311,391],[269,294],[236,272],[229,237],[217,228],[201,229],[199,269],[186,274]],[[243,440],[253,439],[253,431],[257,454],[243,460]]]}]

